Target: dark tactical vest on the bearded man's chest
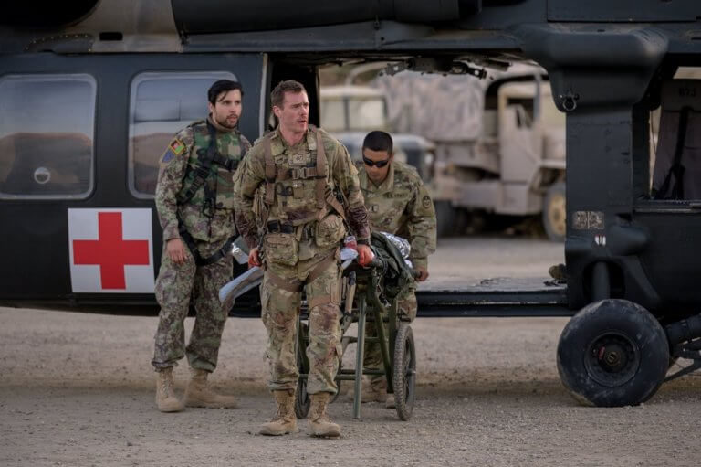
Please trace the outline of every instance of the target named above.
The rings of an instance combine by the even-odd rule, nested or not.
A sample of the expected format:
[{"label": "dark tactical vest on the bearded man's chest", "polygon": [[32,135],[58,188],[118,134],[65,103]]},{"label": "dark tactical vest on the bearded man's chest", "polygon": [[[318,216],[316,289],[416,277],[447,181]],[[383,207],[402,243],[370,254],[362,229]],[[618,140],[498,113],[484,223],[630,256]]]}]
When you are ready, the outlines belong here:
[{"label": "dark tactical vest on the bearded man's chest", "polygon": [[212,123],[195,122],[190,126],[194,132],[194,150],[190,152],[177,200],[181,205],[189,202],[201,206],[204,215],[211,218],[214,209],[234,208],[233,175],[242,157],[240,133],[235,130],[231,134],[225,155],[218,151]]}]

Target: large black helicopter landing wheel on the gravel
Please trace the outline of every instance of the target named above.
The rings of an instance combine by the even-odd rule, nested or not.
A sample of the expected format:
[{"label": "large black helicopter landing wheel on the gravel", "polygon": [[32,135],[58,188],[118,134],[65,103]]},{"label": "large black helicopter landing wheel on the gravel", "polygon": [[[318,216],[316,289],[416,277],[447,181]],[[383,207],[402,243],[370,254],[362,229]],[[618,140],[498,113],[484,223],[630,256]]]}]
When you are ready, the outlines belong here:
[{"label": "large black helicopter landing wheel on the gravel", "polygon": [[570,319],[560,335],[560,379],[584,404],[638,405],[654,395],[668,367],[664,329],[633,302],[591,303]]}]

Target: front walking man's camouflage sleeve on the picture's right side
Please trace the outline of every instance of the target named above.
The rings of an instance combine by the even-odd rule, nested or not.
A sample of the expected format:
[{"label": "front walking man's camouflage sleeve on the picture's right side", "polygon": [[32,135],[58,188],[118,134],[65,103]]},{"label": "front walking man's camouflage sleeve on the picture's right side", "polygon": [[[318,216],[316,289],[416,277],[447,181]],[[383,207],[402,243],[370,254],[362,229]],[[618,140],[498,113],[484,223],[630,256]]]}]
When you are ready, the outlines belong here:
[{"label": "front walking man's camouflage sleeve on the picture's right side", "polygon": [[332,175],[348,202],[346,218],[348,219],[349,227],[357,239],[370,239],[368,211],[362,199],[358,169],[353,165],[351,155],[348,154],[348,150],[343,144],[335,143],[334,149]]}]

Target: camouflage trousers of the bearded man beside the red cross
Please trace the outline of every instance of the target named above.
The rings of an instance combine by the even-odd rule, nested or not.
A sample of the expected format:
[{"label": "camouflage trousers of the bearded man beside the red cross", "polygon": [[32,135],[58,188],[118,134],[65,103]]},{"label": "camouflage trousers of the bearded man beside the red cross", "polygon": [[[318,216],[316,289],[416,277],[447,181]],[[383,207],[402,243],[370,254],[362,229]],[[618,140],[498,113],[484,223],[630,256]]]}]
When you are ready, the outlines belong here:
[{"label": "camouflage trousers of the bearded man beside the red cross", "polygon": [[[225,240],[218,243],[199,244],[200,253],[207,257],[220,249]],[[192,254],[186,250],[186,260],[174,264],[163,245],[161,270],[156,279],[156,300],[161,305],[152,365],[160,370],[176,366],[187,355],[190,366],[209,372],[214,371],[227,310],[219,302],[219,289],[231,280],[233,262],[225,255],[214,264],[195,266]],[[185,348],[183,321],[194,297],[197,312],[190,344]]]}]

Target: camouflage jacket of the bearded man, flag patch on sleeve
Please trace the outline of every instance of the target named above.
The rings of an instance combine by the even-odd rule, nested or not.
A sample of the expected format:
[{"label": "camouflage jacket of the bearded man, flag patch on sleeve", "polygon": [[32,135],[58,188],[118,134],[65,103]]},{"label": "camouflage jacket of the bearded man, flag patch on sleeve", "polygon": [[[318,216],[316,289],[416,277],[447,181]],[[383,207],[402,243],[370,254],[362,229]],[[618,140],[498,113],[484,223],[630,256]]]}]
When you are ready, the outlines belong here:
[{"label": "camouflage jacket of the bearded man, flag patch on sleeve", "polygon": [[[217,129],[217,151],[233,159],[233,169],[250,148],[250,143],[237,130],[226,132],[219,125],[214,127]],[[161,156],[155,201],[163,229],[163,242],[180,237],[178,216],[196,240],[214,243],[235,235],[234,170],[212,164],[204,185],[194,196],[184,203],[178,201],[179,196],[183,196],[192,185],[199,165],[198,152],[207,151],[209,140],[206,122],[194,122],[175,135]],[[214,206],[205,206],[211,196],[215,200]]]}]

